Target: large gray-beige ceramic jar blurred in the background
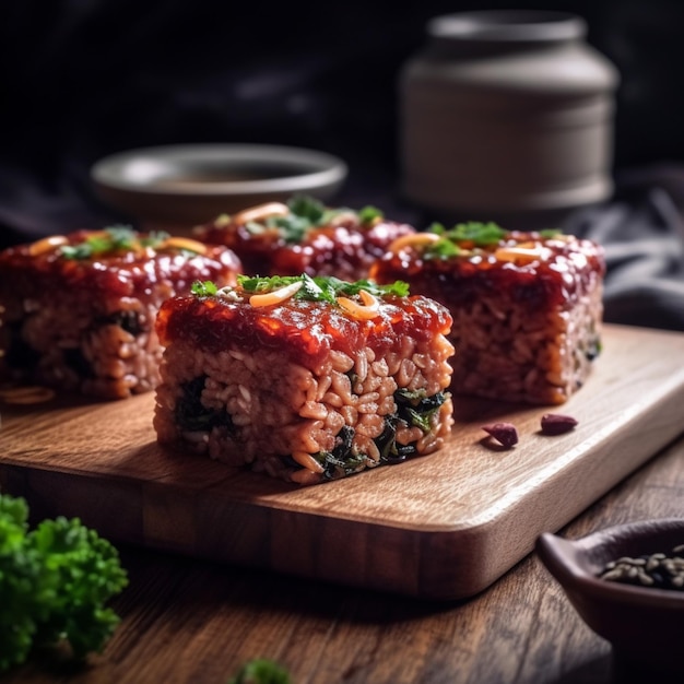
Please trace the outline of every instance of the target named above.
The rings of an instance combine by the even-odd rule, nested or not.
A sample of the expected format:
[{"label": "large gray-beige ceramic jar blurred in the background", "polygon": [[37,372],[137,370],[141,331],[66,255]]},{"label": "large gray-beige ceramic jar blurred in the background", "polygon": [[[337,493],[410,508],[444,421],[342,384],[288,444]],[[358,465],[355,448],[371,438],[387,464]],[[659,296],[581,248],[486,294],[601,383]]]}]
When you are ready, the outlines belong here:
[{"label": "large gray-beige ceramic jar blurred in the background", "polygon": [[618,74],[586,34],[561,12],[433,19],[400,73],[404,199],[512,228],[609,198]]}]

